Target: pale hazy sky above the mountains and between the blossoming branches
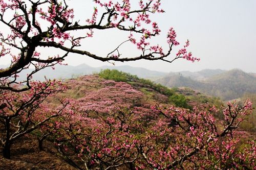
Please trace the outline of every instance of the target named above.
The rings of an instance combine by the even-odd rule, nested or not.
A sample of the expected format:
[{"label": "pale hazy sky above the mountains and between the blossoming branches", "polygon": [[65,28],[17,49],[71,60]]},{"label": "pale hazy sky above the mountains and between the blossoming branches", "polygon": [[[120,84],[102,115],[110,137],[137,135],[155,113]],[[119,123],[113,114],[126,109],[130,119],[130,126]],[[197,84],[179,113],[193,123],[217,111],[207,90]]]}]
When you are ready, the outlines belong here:
[{"label": "pale hazy sky above the mountains and between the blossoming branches", "polygon": [[[68,1],[77,19],[85,20],[91,16],[91,0]],[[138,4],[131,0],[132,5]],[[166,33],[175,28],[181,45],[190,40],[189,51],[200,62],[191,63],[180,59],[172,64],[163,61],[115,62],[115,65],[131,65],[158,71],[197,71],[205,68],[240,68],[247,72],[256,72],[256,1],[255,0],[162,0],[165,13],[156,15],[152,20],[159,23],[161,36],[153,43],[166,46]],[[84,50],[99,55],[108,54],[113,48],[127,39],[127,33],[116,31],[98,32],[83,44]],[[123,56],[136,55],[132,46],[123,48]],[[177,48],[176,48],[177,50]],[[45,52],[47,53],[47,52]],[[174,51],[173,55],[176,52]],[[66,59],[70,65],[82,63],[90,66],[111,65],[95,61],[84,56],[71,55]],[[2,61],[0,64],[5,64]]]}]

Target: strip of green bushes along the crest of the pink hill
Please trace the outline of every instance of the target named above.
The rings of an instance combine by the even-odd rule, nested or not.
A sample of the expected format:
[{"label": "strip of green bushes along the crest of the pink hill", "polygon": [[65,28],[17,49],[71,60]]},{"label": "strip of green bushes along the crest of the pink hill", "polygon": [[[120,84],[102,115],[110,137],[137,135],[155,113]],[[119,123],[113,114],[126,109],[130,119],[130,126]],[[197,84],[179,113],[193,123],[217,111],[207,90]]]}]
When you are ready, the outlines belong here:
[{"label": "strip of green bushes along the crest of the pink hill", "polygon": [[[117,82],[120,82],[120,81],[127,82],[127,83],[130,83],[132,86],[136,86],[139,84],[139,86],[151,88],[161,94],[166,95],[169,99],[169,102],[174,104],[175,106],[183,107],[183,108],[190,108],[187,105],[187,101],[186,101],[186,98],[184,95],[177,94],[174,89],[170,89],[161,84],[156,84],[156,83],[152,82],[151,80],[140,79],[137,76],[131,75],[126,72],[118,71],[116,69],[101,70],[98,73],[98,75],[100,78],[103,78],[106,80],[114,80]],[[142,92],[145,92],[145,90]]]}]

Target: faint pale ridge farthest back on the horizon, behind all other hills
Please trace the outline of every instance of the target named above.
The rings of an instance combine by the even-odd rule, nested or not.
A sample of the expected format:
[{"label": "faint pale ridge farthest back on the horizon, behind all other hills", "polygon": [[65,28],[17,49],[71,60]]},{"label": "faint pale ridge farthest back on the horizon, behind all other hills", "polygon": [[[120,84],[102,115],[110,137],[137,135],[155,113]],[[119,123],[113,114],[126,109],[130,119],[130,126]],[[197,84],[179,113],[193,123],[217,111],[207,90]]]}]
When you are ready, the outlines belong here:
[{"label": "faint pale ridge farthest back on the horizon, behind all other hills", "polygon": [[[0,65],[0,68],[5,68],[8,65]],[[95,72],[99,72],[102,69],[117,69],[119,71],[127,72],[132,75],[136,75],[140,78],[147,78],[151,80],[156,80],[158,78],[167,76],[167,75],[182,75],[184,77],[190,77],[194,80],[204,81],[209,77],[222,74],[227,72],[228,70],[223,69],[202,69],[200,71],[170,71],[170,72],[163,72],[163,71],[156,71],[150,70],[143,67],[133,67],[129,65],[122,65],[122,66],[99,66],[99,67],[92,67],[85,63],[82,63],[77,66],[72,65],[56,65],[54,71],[52,68],[48,67],[43,70],[37,72],[34,76],[34,80],[45,80],[45,76],[50,79],[69,79],[73,77],[78,77],[82,75],[91,75]],[[20,77],[25,77],[29,71],[32,69],[27,69],[20,74]],[[248,74],[256,77],[256,73],[249,72]]]}]

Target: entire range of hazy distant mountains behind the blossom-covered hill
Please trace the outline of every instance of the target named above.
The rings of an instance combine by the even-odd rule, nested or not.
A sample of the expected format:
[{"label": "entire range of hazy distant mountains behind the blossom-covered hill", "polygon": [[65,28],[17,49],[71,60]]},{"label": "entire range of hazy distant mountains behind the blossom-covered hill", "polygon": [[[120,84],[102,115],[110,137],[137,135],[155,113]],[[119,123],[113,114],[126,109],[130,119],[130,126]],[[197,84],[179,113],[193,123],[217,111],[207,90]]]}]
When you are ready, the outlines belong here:
[{"label": "entire range of hazy distant mountains behind the blossom-covered hill", "polygon": [[[0,65],[5,68],[6,65]],[[219,96],[223,100],[240,98],[244,93],[256,93],[256,74],[246,73],[239,69],[230,71],[221,69],[204,69],[197,72],[160,72],[132,66],[101,66],[91,67],[86,64],[78,66],[57,65],[55,69],[45,68],[33,75],[34,80],[70,79],[82,75],[91,75],[102,69],[117,69],[137,75],[139,78],[151,79],[167,87],[188,87],[209,95]],[[19,74],[24,80],[30,69]]]}]

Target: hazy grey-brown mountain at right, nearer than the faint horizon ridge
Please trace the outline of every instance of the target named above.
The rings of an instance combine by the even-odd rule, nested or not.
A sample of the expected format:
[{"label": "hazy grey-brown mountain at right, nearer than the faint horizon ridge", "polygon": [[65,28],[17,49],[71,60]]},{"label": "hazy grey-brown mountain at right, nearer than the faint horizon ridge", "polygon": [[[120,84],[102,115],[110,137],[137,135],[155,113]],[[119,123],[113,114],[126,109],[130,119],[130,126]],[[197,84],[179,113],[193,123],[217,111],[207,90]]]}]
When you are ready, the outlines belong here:
[{"label": "hazy grey-brown mountain at right, nearer than the faint horizon ridge", "polygon": [[201,75],[202,72],[206,73],[205,79],[202,79],[204,81],[195,80],[191,76],[185,77],[181,73],[165,76],[155,82],[167,87],[189,87],[223,100],[241,98],[244,93],[256,93],[256,77],[242,70],[219,70],[222,72],[220,74],[216,74],[217,71],[204,70]]}]

